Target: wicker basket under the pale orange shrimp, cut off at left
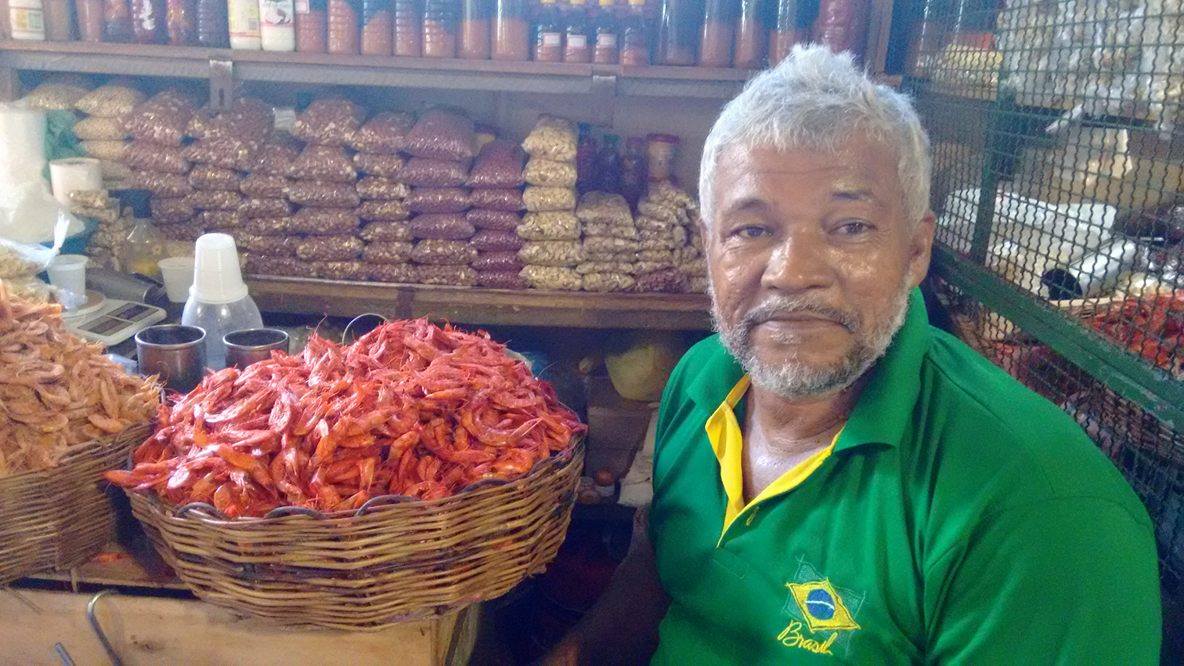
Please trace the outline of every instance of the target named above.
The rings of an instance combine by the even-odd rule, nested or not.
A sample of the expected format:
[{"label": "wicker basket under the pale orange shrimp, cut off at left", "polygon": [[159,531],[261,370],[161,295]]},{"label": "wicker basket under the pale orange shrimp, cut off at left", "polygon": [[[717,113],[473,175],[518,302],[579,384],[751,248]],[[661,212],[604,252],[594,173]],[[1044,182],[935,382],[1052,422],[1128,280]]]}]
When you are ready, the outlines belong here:
[{"label": "wicker basket under the pale orange shrimp, cut off at left", "polygon": [[98,552],[115,524],[101,475],[147,436],[147,424],[131,428],[71,447],[52,469],[0,479],[0,585]]}]

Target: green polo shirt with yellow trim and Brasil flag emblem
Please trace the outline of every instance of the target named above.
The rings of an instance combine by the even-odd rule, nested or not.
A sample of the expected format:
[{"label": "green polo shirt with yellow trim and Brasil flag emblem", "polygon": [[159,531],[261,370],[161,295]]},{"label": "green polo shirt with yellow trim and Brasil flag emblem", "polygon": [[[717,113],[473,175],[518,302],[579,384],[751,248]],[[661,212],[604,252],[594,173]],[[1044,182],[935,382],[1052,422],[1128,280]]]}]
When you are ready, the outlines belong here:
[{"label": "green polo shirt with yellow trim and Brasil flag emblem", "polygon": [[1076,423],[933,329],[919,292],[871,372],[829,455],[725,529],[706,428],[744,372],[714,337],[675,369],[655,662],[1158,662],[1152,524]]}]

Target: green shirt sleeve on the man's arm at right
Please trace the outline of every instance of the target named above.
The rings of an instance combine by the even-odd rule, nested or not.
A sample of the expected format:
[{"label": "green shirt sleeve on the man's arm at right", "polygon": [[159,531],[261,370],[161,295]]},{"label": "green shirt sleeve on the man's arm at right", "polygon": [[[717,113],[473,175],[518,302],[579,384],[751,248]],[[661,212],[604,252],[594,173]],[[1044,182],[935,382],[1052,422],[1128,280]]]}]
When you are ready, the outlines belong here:
[{"label": "green shirt sleeve on the man's arm at right", "polygon": [[924,594],[933,662],[1159,662],[1154,536],[1107,499],[1002,511],[926,568]]}]

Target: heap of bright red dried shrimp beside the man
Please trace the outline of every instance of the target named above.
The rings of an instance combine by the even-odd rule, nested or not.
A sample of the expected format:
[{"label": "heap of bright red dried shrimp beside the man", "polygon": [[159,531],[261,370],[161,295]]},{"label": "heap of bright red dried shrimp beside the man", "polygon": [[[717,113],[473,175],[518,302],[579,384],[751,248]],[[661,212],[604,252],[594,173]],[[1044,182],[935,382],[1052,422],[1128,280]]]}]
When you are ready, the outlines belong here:
[{"label": "heap of bright red dried shrimp beside the man", "polygon": [[314,335],[298,356],[207,376],[160,409],[133,469],[107,478],[227,517],[353,510],[514,479],[584,429],[488,334],[398,321],[349,346]]}]

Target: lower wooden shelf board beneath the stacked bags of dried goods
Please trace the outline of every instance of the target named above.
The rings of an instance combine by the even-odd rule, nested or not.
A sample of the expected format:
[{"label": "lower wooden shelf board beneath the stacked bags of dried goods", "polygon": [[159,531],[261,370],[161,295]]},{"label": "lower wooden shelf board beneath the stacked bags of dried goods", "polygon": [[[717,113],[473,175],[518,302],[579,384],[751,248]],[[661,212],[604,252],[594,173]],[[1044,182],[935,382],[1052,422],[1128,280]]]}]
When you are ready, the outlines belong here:
[{"label": "lower wooden shelf board beneath the stacked bags of dried goods", "polygon": [[710,328],[702,294],[592,294],[378,284],[295,277],[247,280],[259,309],[272,313],[427,316],[480,326],[566,328]]}]

